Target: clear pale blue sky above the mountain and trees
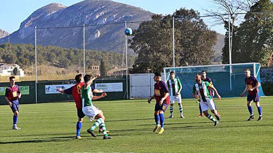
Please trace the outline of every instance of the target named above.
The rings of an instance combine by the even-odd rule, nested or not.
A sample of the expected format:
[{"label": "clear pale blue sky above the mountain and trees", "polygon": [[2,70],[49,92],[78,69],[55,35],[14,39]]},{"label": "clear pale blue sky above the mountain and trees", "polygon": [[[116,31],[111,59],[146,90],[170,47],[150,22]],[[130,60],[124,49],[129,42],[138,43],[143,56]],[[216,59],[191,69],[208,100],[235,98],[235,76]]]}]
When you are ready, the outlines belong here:
[{"label": "clear pale blue sky above the mountain and trees", "polygon": [[[0,9],[0,29],[9,33],[19,29],[20,23],[29,17],[37,9],[50,3],[60,3],[65,6],[71,6],[82,0],[1,0]],[[115,2],[125,3],[132,6],[141,7],[144,10],[157,14],[172,14],[176,9],[185,7],[193,8],[205,15],[204,9],[211,10],[213,3],[209,0],[114,0]],[[211,20],[205,19],[209,28],[224,34],[223,26],[210,26]]]}]

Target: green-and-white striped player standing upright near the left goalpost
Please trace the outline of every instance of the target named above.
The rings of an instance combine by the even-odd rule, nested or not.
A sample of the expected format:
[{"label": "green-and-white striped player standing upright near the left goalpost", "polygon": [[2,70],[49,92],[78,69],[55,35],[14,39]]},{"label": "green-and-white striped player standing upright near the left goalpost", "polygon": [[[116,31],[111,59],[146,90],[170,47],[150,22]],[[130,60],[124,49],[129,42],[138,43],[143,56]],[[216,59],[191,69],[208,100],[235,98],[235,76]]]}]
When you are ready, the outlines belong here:
[{"label": "green-and-white striped player standing upright near the left goalpost", "polygon": [[175,77],[175,73],[173,71],[170,72],[170,79],[167,82],[168,89],[169,89],[169,96],[170,96],[170,117],[173,118],[173,104],[177,101],[179,111],[180,111],[180,118],[185,118],[183,116],[183,108],[182,108],[182,99],[180,91],[182,90],[182,85],[179,78]]}]

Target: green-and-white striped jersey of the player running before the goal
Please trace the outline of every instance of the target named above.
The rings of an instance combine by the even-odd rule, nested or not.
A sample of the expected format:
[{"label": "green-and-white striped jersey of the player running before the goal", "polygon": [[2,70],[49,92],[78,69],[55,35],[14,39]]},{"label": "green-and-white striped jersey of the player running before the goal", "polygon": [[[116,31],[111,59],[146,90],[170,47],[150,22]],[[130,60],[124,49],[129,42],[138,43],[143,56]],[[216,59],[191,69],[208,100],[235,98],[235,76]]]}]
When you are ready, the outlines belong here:
[{"label": "green-and-white striped jersey of the player running before the goal", "polygon": [[192,93],[198,92],[200,102],[209,102],[212,100],[212,97],[209,94],[208,87],[211,87],[211,84],[207,81],[202,81],[201,83],[195,83],[192,87]]}]

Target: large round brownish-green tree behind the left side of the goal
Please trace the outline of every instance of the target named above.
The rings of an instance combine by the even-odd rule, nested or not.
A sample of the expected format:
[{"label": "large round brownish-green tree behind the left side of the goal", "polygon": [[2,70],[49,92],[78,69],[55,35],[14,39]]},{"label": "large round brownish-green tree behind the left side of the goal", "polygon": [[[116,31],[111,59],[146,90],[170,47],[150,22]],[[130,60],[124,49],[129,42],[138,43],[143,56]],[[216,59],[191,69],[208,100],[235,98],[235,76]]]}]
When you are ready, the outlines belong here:
[{"label": "large round brownish-green tree behind the left side of the goal", "polygon": [[162,72],[164,67],[173,66],[172,17],[176,18],[175,65],[210,64],[217,35],[199,16],[192,9],[181,8],[172,15],[153,15],[152,21],[140,23],[134,29],[134,37],[128,40],[129,48],[138,54],[132,73]]}]

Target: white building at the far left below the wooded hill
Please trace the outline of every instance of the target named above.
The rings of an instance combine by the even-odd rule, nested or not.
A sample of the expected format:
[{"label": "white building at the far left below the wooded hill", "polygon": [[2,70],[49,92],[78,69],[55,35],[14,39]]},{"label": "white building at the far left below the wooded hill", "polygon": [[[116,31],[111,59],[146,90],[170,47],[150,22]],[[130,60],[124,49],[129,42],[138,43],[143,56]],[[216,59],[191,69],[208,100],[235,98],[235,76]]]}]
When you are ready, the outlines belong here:
[{"label": "white building at the far left below the wooded hill", "polygon": [[13,69],[16,68],[16,67],[17,67],[17,69],[19,71],[19,76],[23,77],[25,75],[24,71],[22,69],[20,69],[20,66],[17,65],[17,64],[3,64],[3,65],[0,65],[0,76],[14,75],[13,74]]}]

